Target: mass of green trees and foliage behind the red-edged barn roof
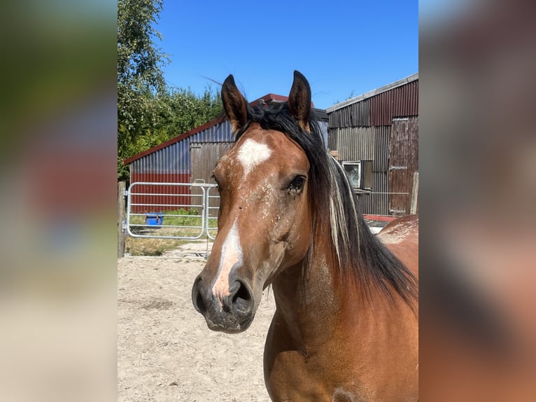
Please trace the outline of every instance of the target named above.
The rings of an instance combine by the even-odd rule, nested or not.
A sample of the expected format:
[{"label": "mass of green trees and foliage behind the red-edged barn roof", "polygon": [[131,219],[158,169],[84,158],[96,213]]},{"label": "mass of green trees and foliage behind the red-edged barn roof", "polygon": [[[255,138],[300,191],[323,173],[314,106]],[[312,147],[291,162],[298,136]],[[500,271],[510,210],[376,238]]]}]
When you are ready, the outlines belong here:
[{"label": "mass of green trees and foliage behind the red-edged barn roof", "polygon": [[210,85],[203,95],[168,88],[154,42],[153,25],[163,0],[118,1],[118,179],[128,179],[122,161],[216,118],[223,110]]}]

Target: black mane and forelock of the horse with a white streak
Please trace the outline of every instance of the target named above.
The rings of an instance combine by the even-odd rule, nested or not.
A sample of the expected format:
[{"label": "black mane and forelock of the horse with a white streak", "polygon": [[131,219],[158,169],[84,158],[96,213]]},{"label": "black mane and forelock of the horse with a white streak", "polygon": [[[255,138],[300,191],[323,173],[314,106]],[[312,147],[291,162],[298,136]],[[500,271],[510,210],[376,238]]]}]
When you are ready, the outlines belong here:
[{"label": "black mane and forelock of the horse with a white streak", "polygon": [[[312,112],[313,113],[313,112]],[[311,113],[311,115],[312,115]],[[339,261],[340,279],[352,280],[369,296],[370,286],[379,286],[393,299],[394,289],[409,304],[418,298],[414,275],[373,235],[358,211],[355,195],[339,163],[325,151],[315,116],[309,119],[310,132],[290,114],[288,103],[248,106],[248,123],[237,134],[244,134],[250,123],[265,130],[283,132],[304,150],[309,159],[309,202],[312,211],[313,244],[325,228],[330,228],[334,256]],[[327,214],[326,212],[330,213]]]}]

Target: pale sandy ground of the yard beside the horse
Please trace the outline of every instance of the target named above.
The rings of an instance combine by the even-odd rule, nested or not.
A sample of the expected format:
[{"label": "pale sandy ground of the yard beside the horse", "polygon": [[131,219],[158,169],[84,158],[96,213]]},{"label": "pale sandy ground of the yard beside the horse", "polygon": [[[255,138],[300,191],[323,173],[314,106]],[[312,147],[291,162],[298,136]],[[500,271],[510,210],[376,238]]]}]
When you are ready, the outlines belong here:
[{"label": "pale sandy ground of the yard beside the horse", "polygon": [[265,291],[245,333],[210,331],[190,296],[200,247],[118,259],[118,401],[269,401],[262,354],[273,296]]}]

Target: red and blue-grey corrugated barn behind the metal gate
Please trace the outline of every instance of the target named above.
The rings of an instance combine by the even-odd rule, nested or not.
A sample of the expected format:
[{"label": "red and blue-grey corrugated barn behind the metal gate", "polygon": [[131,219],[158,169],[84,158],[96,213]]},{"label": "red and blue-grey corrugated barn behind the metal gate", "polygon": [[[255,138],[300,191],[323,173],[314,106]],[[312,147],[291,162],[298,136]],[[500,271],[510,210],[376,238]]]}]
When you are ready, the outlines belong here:
[{"label": "red and blue-grey corrugated barn behind the metal gate", "polygon": [[[285,102],[288,98],[268,94],[251,102],[270,105]],[[324,143],[327,144],[327,114],[323,109],[313,112],[320,121]],[[123,161],[129,165],[130,183],[214,183],[212,169],[225,151],[234,143],[229,120],[220,116],[199,127],[169,139],[153,148]],[[153,212],[152,205],[160,211],[176,209],[171,205],[192,205],[190,186],[163,186],[144,184],[136,187],[132,199],[132,212]],[[136,205],[141,204],[141,205]],[[166,207],[166,205],[170,205]]]}]

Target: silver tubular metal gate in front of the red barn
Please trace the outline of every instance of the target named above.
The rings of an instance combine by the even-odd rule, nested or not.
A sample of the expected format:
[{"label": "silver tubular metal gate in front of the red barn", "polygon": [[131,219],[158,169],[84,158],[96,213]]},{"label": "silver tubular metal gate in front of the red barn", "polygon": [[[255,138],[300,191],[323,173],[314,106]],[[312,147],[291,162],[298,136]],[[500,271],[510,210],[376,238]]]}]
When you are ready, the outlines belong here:
[{"label": "silver tubular metal gate in front of the red barn", "polygon": [[199,182],[132,183],[127,191],[128,235],[214,240],[220,204],[217,187]]}]

